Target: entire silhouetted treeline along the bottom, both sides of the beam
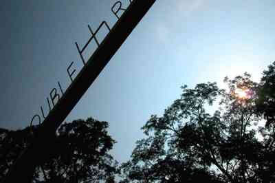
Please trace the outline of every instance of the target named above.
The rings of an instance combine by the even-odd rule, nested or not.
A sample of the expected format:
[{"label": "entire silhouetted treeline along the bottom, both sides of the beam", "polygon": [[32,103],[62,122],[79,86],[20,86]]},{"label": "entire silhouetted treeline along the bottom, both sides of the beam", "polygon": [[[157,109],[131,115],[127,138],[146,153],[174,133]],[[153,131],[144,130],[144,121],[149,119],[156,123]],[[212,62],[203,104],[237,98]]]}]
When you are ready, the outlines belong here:
[{"label": "entire silhouetted treeline along the bottom, both sides of the beam", "polygon": [[[181,87],[121,165],[109,154],[107,122],[63,124],[33,182],[275,182],[275,62],[259,83],[247,73],[225,83]],[[1,180],[34,138],[35,129],[0,129]]]}]

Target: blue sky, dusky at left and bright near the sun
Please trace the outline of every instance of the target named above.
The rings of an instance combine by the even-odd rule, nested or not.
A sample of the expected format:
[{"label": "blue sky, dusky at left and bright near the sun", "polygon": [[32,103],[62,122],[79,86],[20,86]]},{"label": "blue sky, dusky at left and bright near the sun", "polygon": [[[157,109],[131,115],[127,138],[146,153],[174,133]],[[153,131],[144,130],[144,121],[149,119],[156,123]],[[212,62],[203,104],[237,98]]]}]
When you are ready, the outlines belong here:
[{"label": "blue sky, dusky at left and bright near the sun", "polygon": [[[114,3],[1,1],[1,128],[27,127],[57,81],[69,86],[67,67],[72,61],[77,72],[81,67],[74,42],[87,42],[88,24],[113,26]],[[152,114],[162,115],[181,85],[216,81],[225,87],[225,76],[243,72],[259,81],[275,60],[274,9],[274,0],[156,1],[66,121],[91,116],[109,122],[117,141],[112,155],[129,160],[144,137],[140,128]]]}]

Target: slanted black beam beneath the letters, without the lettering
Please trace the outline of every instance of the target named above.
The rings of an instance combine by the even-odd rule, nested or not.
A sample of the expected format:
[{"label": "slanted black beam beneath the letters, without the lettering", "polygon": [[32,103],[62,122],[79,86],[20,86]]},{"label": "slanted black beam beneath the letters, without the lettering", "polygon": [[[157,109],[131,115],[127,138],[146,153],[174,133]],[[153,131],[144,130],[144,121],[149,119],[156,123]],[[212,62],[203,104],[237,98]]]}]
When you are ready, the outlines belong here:
[{"label": "slanted black beam beneath the letters, without the lettering", "polygon": [[35,167],[42,163],[52,150],[51,143],[56,129],[69,115],[91,84],[94,83],[102,69],[118,51],[146,12],[153,6],[153,3],[155,3],[155,0],[135,0],[131,3],[76,76],[72,85],[68,87],[54,109],[45,118],[41,127],[39,127],[34,142],[14,162],[4,182],[30,182],[32,180]]}]

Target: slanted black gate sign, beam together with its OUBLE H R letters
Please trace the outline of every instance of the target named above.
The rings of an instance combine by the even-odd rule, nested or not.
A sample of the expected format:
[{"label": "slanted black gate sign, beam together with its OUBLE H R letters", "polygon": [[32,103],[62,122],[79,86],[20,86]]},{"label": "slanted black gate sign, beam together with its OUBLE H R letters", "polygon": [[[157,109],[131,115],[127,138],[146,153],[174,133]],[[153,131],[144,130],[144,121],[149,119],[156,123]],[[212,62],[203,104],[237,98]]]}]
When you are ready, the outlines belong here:
[{"label": "slanted black gate sign, beam together with its OUBLE H R letters", "polygon": [[[61,125],[65,118],[69,115],[70,111],[76,106],[80,98],[85,94],[87,89],[94,83],[94,80],[98,77],[102,69],[111,60],[115,52],[118,51],[122,43],[131,34],[135,26],[141,21],[146,12],[153,6],[155,0],[128,0],[129,6],[125,8],[125,4],[122,1],[116,1],[112,6],[111,11],[118,18],[118,21],[110,28],[106,21],[102,21],[98,29],[93,32],[88,25],[91,37],[87,43],[80,48],[76,43],[78,54],[83,62],[83,68],[80,70],[77,76],[74,77],[76,69],[73,69],[74,62],[67,67],[67,74],[72,81],[71,85],[64,90],[61,87],[61,83],[57,83],[58,89],[54,88],[50,92],[50,99],[47,98],[47,104],[49,105],[50,112],[47,116],[41,107],[41,114],[35,114],[31,120],[31,126],[34,120],[41,123],[42,117],[44,118],[40,127],[36,130],[34,142],[27,147],[14,165],[8,172],[4,182],[31,182],[34,169],[38,164],[41,164],[47,155],[53,151],[51,143],[53,142],[56,129]],[[122,14],[120,16],[120,14]],[[109,33],[105,36],[104,40],[99,43],[96,35],[101,28],[107,28]],[[91,57],[85,61],[83,52],[91,43],[96,41],[98,45],[96,51]],[[52,103],[53,108],[51,109]]]}]

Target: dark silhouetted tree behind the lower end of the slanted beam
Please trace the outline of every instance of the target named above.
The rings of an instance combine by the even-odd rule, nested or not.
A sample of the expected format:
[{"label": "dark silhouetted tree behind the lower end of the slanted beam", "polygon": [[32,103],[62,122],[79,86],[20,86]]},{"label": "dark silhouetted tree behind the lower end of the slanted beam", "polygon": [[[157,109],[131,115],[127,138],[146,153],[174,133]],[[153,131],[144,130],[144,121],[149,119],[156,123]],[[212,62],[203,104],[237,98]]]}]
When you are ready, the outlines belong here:
[{"label": "dark silhouetted tree behind the lower end of the slanted beam", "polygon": [[[115,174],[119,172],[118,163],[108,153],[115,140],[108,135],[107,127],[107,122],[93,118],[61,125],[47,161],[36,167],[33,182],[114,182]],[[3,178],[34,136],[29,127],[0,132]]]}]

